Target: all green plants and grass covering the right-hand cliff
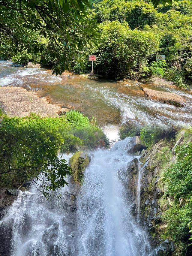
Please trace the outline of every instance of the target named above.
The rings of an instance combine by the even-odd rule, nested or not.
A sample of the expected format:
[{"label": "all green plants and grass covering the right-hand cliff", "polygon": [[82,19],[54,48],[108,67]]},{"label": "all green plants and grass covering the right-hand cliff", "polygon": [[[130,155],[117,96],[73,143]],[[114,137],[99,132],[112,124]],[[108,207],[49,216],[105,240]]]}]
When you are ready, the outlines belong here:
[{"label": "all green plants and grass covering the right-hand cliff", "polygon": [[[162,212],[161,221],[167,225],[161,237],[174,241],[174,255],[178,256],[186,255],[186,251],[190,250],[192,232],[192,129],[183,130],[182,134],[179,131],[176,139],[169,140],[167,145],[170,146],[162,148],[153,158],[154,166],[161,170],[161,178],[157,183],[157,187],[161,188],[158,204]],[[181,144],[175,148],[175,158],[171,145],[174,146],[179,139]],[[158,229],[158,224],[156,227]]]}]

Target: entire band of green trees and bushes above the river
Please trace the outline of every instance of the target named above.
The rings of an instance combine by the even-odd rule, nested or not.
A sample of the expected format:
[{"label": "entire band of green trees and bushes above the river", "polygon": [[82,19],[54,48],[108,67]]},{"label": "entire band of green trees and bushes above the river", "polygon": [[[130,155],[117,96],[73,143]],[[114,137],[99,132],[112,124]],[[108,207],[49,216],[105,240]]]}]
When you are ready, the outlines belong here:
[{"label": "entire band of green trees and bushes above the river", "polygon": [[[188,89],[187,81],[192,79],[190,0],[90,3],[91,7],[87,0],[32,0],[16,5],[12,0],[1,1],[1,57],[13,57],[22,64],[51,64],[54,73],[61,74],[69,68],[90,72],[88,54],[97,54],[94,68],[100,75],[113,79],[158,75]],[[155,54],[165,54],[167,64],[155,62]]]}]

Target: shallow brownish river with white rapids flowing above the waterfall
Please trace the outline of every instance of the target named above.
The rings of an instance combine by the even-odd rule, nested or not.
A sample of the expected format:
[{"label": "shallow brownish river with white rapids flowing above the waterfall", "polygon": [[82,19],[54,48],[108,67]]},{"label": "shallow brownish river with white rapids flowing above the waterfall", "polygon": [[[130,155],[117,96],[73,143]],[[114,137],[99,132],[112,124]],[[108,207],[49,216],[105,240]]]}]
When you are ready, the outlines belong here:
[{"label": "shallow brownish river with white rapids flowing above the waterfall", "polygon": [[[94,115],[99,124],[109,130],[116,130],[126,121],[160,126],[192,124],[192,94],[177,88],[155,86],[156,90],[174,92],[186,98],[187,104],[183,108],[147,98],[138,81],[130,80],[127,84],[93,81],[68,72],[56,77],[50,70],[27,69],[9,61],[0,62],[0,85],[37,91],[39,96],[46,96],[52,103],[78,109],[89,117]],[[142,86],[154,88],[151,84]]]}]

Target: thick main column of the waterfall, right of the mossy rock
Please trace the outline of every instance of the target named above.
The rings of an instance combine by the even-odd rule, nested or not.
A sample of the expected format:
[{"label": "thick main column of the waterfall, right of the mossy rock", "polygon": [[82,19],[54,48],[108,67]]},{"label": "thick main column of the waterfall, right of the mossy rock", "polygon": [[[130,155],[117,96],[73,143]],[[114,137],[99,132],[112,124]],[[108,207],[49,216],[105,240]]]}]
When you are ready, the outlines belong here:
[{"label": "thick main column of the waterfall, right of the mossy rock", "polygon": [[131,215],[124,178],[130,138],[93,153],[78,199],[78,256],[147,256],[146,233]]}]

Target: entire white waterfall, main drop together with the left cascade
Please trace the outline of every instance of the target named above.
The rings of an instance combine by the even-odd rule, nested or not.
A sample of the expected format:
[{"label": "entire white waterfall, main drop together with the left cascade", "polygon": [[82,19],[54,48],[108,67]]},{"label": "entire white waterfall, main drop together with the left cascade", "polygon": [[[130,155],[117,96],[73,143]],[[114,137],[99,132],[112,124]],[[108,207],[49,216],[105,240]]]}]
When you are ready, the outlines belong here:
[{"label": "entire white waterfall, main drop together with the left cascade", "polygon": [[9,234],[9,251],[4,256],[149,255],[147,235],[131,214],[126,186],[127,166],[134,158],[127,153],[130,145],[127,138],[110,151],[91,152],[77,201],[74,184],[58,191],[60,201],[46,200],[34,185],[19,191],[0,225],[4,236]]}]

